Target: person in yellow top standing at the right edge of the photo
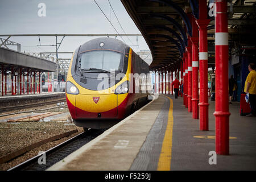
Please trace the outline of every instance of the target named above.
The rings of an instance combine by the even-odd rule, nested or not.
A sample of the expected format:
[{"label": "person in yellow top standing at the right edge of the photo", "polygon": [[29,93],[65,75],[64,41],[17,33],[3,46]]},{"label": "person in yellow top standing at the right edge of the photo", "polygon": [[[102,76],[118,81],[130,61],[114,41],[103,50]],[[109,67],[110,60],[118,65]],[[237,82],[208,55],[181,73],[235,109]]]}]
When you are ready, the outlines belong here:
[{"label": "person in yellow top standing at the right edge of the photo", "polygon": [[246,116],[256,116],[256,72],[255,64],[250,63],[248,66],[249,74],[245,81],[245,93],[249,93],[249,103],[251,107],[251,113]]}]

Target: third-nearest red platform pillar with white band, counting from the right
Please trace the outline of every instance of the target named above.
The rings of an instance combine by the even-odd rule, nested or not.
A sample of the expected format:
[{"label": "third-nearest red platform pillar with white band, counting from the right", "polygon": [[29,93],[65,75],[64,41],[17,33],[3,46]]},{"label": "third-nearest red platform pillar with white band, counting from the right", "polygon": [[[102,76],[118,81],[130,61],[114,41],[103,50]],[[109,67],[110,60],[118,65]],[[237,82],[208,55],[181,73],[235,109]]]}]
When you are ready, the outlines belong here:
[{"label": "third-nearest red platform pillar with white band, counting from the right", "polygon": [[199,57],[198,57],[198,27],[196,19],[192,18],[192,117],[193,119],[199,119],[199,88],[198,88],[198,71],[199,71]]}]

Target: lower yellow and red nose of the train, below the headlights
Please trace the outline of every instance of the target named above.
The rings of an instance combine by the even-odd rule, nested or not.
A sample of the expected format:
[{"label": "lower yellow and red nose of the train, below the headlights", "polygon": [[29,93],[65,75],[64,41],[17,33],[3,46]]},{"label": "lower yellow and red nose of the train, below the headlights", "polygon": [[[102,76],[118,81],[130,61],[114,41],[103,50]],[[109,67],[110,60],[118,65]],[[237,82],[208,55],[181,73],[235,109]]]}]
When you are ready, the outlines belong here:
[{"label": "lower yellow and red nose of the train, below the headlights", "polygon": [[[68,81],[72,82],[72,77]],[[68,108],[73,119],[121,119],[125,115],[128,93],[115,94],[111,91],[110,93],[101,93],[82,88],[76,82],[72,83],[79,90],[79,94],[66,93]],[[114,88],[110,89],[114,91]]]}]

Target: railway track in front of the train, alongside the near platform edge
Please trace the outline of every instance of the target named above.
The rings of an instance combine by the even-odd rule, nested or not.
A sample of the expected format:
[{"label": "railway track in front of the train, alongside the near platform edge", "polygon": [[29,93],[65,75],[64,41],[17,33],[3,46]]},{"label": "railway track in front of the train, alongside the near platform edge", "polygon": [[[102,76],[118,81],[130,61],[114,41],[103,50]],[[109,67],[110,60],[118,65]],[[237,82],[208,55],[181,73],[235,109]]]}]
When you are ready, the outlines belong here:
[{"label": "railway track in front of the train, alongside the near platform edge", "polygon": [[47,150],[45,152],[46,164],[38,164],[38,159],[42,155],[37,155],[34,158],[28,159],[25,162],[8,169],[8,171],[44,171],[82,147],[84,144],[90,142],[90,140],[93,140],[94,138],[98,137],[98,135],[104,133],[105,130],[89,129],[88,131],[76,135],[75,137]]}]

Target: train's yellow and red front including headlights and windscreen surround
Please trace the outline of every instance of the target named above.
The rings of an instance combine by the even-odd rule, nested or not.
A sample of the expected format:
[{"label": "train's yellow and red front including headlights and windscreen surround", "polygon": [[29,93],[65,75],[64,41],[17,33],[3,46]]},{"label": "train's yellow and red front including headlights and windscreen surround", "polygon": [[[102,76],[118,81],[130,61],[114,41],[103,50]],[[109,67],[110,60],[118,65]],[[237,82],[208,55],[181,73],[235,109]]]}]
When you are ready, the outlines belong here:
[{"label": "train's yellow and red front including headlights and windscreen surround", "polygon": [[[129,73],[131,73],[131,49],[125,56],[128,58],[127,71],[121,80],[104,90],[90,90],[78,84],[71,74],[71,66],[67,76],[67,105],[73,119],[122,119],[125,117],[132,94],[127,93]],[[121,89],[122,94],[117,94]]]}]

